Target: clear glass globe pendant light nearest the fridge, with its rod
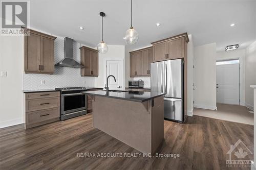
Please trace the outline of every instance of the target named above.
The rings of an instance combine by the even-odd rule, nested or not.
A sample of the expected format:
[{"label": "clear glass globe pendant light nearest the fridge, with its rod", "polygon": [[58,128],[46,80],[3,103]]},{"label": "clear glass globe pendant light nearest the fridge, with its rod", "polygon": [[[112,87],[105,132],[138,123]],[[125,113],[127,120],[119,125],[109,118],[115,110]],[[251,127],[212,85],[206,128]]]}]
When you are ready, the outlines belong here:
[{"label": "clear glass globe pendant light nearest the fridge, with its rod", "polygon": [[133,29],[133,25],[132,25],[132,0],[131,0],[131,27],[129,30],[127,30],[125,32],[125,36],[123,37],[123,39],[126,41],[127,44],[135,44],[138,41],[138,32],[136,30]]}]

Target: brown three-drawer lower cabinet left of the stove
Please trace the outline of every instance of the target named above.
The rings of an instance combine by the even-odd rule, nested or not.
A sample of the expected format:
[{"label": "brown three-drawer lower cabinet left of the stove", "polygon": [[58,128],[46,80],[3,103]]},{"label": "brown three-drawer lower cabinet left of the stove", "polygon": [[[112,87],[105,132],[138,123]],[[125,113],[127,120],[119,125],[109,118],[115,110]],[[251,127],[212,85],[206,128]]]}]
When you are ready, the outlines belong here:
[{"label": "brown three-drawer lower cabinet left of the stove", "polygon": [[35,92],[25,94],[25,129],[59,120],[60,92]]}]

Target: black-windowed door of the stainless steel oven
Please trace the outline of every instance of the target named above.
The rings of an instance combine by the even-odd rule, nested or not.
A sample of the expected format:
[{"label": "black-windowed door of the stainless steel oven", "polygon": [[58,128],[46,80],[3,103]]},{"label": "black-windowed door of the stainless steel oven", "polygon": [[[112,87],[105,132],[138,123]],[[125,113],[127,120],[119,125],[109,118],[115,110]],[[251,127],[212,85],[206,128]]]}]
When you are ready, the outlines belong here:
[{"label": "black-windowed door of the stainless steel oven", "polygon": [[61,114],[85,110],[87,108],[86,94],[61,94]]}]

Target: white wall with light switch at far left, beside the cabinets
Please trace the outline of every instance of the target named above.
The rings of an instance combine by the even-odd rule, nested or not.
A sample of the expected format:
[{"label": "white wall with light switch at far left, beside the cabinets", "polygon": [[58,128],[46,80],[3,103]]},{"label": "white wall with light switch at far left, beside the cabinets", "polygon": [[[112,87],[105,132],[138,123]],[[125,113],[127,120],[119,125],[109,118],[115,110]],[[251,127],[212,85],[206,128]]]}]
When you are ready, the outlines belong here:
[{"label": "white wall with light switch at far left, beside the cabinets", "polygon": [[24,123],[23,70],[24,37],[0,37],[0,128]]}]

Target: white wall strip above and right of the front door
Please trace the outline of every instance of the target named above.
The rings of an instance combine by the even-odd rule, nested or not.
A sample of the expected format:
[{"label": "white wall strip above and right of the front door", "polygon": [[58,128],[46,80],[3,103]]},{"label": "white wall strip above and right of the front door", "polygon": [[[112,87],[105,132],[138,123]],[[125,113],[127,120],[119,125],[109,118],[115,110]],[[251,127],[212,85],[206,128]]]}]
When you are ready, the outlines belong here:
[{"label": "white wall strip above and right of the front door", "polygon": [[244,84],[245,84],[245,50],[235,50],[217,53],[216,60],[239,59],[240,62],[240,105],[244,105]]}]

